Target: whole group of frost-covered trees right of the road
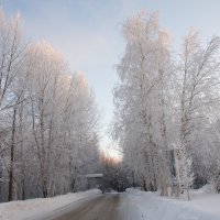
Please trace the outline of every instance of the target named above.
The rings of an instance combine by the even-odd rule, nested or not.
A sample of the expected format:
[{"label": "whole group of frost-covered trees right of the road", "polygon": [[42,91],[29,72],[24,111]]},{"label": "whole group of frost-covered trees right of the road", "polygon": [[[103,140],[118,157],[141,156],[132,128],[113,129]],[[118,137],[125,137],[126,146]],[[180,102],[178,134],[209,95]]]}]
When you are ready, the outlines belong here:
[{"label": "whole group of frost-covered trees right of the road", "polygon": [[176,48],[157,12],[131,16],[122,34],[111,127],[128,170],[162,196],[207,183],[220,193],[220,37],[191,29]]}]

